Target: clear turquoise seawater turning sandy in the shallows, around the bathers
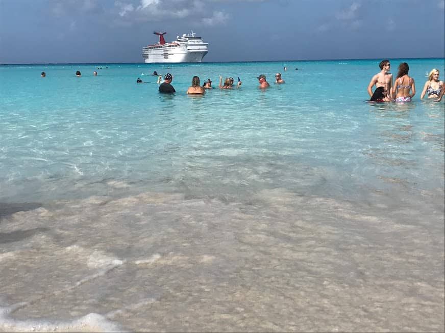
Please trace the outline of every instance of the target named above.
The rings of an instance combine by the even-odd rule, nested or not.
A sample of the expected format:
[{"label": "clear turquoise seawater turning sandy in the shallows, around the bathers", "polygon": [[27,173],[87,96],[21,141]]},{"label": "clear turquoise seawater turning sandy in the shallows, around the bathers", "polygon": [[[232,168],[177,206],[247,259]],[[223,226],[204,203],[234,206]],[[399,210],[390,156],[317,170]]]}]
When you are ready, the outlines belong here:
[{"label": "clear turquoise seawater turning sandy in the shallows, around the bathers", "polygon": [[0,330],[443,330],[444,60],[379,61],[0,66]]}]

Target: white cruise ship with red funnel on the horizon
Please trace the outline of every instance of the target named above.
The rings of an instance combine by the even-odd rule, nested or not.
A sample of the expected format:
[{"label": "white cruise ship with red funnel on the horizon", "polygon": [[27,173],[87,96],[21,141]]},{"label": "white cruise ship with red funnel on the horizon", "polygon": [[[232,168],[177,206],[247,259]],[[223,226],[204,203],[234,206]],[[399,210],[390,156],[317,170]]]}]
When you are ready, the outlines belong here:
[{"label": "white cruise ship with red funnel on the horizon", "polygon": [[177,36],[176,41],[166,43],[165,32],[154,32],[159,42],[142,48],[145,63],[200,63],[207,54],[208,43],[201,37],[191,34]]}]

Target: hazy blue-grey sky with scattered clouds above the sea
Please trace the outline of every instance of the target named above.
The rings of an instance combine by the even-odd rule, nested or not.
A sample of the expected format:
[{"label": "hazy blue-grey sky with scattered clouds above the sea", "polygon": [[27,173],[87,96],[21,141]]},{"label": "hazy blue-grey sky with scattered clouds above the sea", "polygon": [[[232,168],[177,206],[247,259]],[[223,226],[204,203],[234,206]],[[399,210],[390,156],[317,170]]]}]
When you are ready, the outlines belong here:
[{"label": "hazy blue-grey sky with scattered clouds above the sea", "polygon": [[205,62],[445,57],[445,0],[0,0],[0,64],[139,63],[190,31]]}]

